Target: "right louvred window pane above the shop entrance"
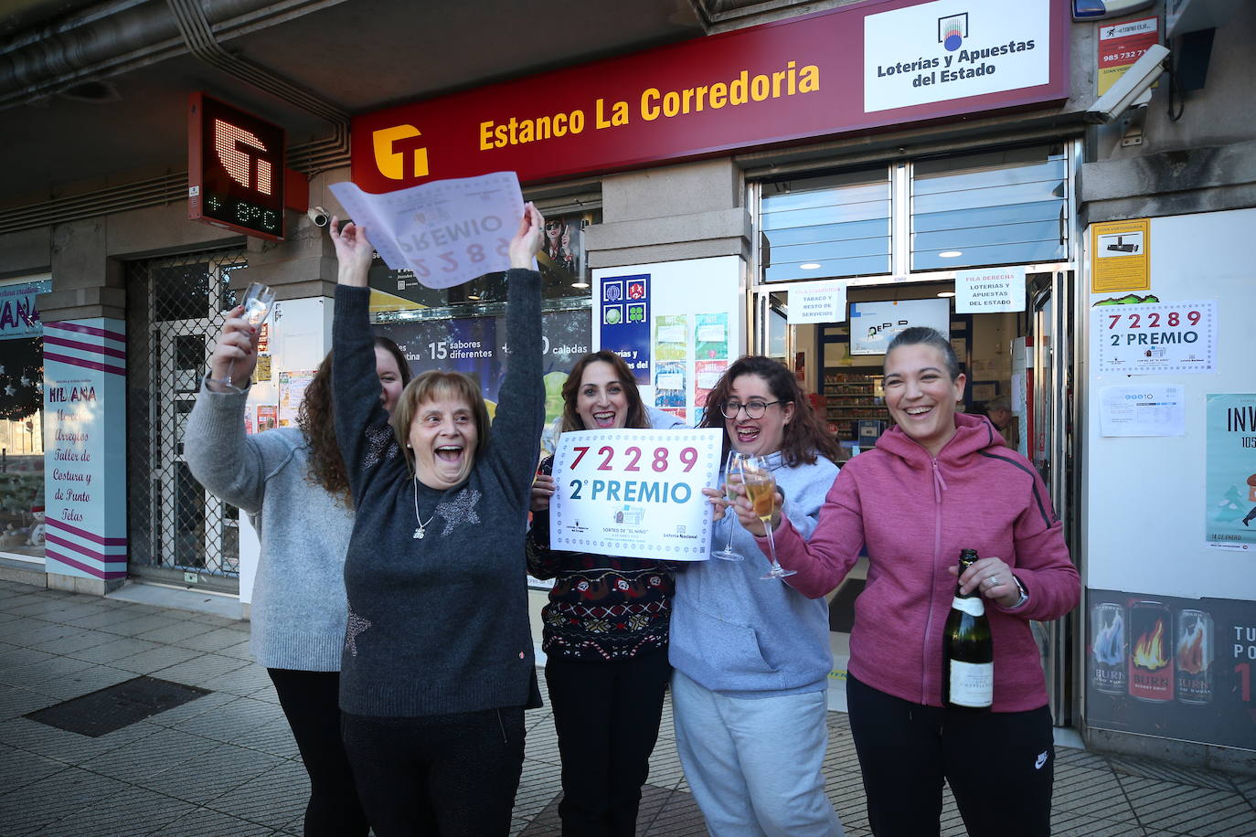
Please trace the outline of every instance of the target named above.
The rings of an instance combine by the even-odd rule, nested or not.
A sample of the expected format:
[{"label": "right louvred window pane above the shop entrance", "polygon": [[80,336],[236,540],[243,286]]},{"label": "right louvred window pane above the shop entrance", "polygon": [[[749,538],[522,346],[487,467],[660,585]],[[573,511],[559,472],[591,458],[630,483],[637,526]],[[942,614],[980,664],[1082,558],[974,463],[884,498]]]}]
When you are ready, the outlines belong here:
[{"label": "right louvred window pane above the shop entrance", "polygon": [[912,270],[1066,259],[1068,177],[1061,146],[917,161]]}]

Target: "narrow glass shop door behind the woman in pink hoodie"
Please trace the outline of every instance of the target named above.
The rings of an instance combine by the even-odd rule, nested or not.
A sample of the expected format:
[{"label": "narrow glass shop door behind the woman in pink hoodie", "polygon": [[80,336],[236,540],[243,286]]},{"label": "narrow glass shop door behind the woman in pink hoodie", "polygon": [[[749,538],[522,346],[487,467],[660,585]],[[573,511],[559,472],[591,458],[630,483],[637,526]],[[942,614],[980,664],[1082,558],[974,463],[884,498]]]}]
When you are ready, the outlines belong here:
[{"label": "narrow glass shop door behind the woman in pink hoodie", "polygon": [[[1073,271],[1034,274],[1029,280],[1026,356],[1026,453],[1051,494],[1076,560],[1073,404]],[[1036,624],[1051,715],[1058,725],[1076,718],[1074,648],[1076,616]]]}]

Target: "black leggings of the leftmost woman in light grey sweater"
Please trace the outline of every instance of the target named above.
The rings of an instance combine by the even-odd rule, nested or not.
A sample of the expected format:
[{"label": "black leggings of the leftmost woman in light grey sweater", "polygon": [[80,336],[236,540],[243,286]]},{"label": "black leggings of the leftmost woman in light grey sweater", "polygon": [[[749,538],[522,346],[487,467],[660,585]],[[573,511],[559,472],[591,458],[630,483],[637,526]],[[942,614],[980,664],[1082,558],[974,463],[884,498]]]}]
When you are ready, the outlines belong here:
[{"label": "black leggings of the leftmost woman in light grey sweater", "polygon": [[305,837],[365,837],[353,770],[340,740],[340,673],[266,669],[310,776]]}]

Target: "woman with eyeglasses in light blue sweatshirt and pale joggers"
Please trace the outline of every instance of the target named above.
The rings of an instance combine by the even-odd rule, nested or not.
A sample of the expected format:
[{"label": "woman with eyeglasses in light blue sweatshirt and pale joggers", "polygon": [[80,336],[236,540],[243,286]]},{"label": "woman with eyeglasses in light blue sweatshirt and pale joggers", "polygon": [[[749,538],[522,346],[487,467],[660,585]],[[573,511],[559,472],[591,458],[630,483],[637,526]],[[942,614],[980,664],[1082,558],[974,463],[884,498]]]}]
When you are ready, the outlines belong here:
[{"label": "woman with eyeglasses in light blue sweatshirt and pale joggers", "polygon": [[[838,476],[838,444],[794,373],[770,358],[739,359],[707,395],[700,427],[722,428],[726,452],[766,457],[785,497],[781,514],[804,537],[815,528]],[[706,493],[722,517],[723,496]],[[728,523],[746,560],[697,562],[676,578],[672,717],[685,778],[716,837],[842,834],[820,772],[828,606],[789,578],[765,581],[754,536]],[[722,547],[727,530],[712,538]]]}]

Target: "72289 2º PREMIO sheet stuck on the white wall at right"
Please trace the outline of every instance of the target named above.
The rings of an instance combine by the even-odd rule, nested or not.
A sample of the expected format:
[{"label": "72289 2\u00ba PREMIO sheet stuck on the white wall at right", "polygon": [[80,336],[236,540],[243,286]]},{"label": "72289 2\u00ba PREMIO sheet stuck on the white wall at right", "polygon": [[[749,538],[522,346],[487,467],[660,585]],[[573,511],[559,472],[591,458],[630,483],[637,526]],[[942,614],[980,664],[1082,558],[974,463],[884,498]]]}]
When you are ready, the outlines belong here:
[{"label": "72289 2\u00ba PREMIO sheet stuck on the white wall at right", "polygon": [[1100,374],[1216,371],[1217,302],[1104,305],[1090,310]]}]

